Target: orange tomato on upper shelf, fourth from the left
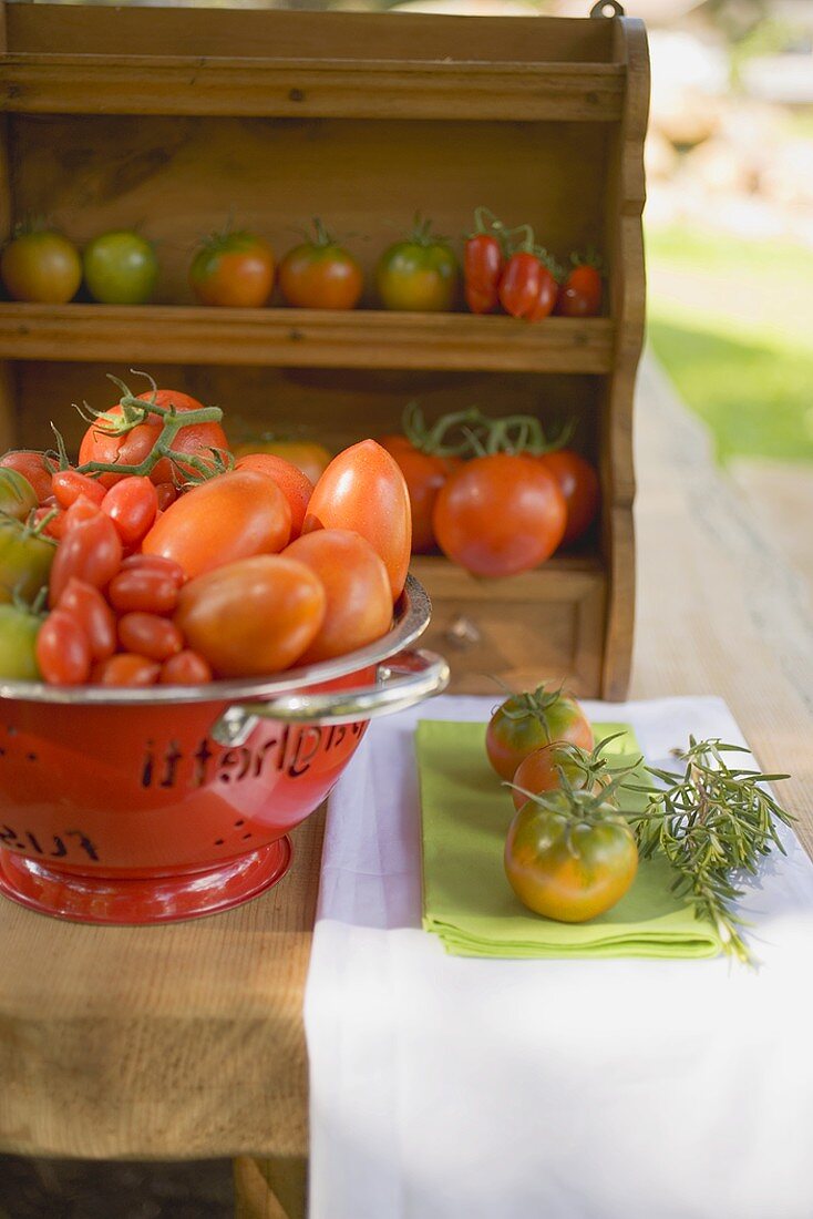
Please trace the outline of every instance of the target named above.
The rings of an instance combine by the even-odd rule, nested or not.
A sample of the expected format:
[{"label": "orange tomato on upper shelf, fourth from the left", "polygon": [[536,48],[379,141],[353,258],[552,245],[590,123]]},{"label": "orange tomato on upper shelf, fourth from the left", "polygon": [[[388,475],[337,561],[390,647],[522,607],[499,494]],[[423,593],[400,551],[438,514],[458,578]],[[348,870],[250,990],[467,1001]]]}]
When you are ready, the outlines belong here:
[{"label": "orange tomato on upper shelf, fourth from the left", "polygon": [[296,308],[353,308],[364,285],[362,269],[319,219],[313,224],[313,240],[289,250],[279,265],[280,291]]}]

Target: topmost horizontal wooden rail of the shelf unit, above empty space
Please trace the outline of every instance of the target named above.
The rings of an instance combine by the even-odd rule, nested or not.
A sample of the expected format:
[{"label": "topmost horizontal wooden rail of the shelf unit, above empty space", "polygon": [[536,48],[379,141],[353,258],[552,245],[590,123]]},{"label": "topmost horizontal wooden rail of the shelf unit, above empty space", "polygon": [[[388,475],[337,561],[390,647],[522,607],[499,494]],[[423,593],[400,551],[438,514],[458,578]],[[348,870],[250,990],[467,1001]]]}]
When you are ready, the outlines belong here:
[{"label": "topmost horizontal wooden rail of the shelf unit, above empty space", "polygon": [[617,63],[0,55],[0,108],[22,113],[616,122],[624,88]]}]

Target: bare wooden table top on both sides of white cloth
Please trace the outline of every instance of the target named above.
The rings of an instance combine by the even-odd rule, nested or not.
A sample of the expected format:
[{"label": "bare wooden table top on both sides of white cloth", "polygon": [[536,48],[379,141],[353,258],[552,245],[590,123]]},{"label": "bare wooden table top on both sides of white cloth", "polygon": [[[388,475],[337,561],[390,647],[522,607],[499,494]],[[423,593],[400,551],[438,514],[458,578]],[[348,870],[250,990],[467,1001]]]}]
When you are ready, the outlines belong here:
[{"label": "bare wooden table top on both sides of white cloth", "polygon": [[[656,369],[639,385],[639,600],[630,697],[718,694],[813,853],[808,588],[712,466]],[[322,816],[283,884],[157,929],[84,928],[0,900],[0,1151],[300,1156],[302,989]]]}]

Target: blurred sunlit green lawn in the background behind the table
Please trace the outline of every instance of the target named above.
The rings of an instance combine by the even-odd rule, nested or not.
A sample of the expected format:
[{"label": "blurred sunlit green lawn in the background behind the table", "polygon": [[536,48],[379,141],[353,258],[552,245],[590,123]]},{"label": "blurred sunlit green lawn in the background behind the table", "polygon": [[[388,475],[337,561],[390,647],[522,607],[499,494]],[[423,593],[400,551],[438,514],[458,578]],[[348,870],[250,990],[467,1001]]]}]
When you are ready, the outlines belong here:
[{"label": "blurred sunlit green lawn in the background behind the table", "polygon": [[813,250],[647,232],[648,339],[718,460],[813,462]]}]

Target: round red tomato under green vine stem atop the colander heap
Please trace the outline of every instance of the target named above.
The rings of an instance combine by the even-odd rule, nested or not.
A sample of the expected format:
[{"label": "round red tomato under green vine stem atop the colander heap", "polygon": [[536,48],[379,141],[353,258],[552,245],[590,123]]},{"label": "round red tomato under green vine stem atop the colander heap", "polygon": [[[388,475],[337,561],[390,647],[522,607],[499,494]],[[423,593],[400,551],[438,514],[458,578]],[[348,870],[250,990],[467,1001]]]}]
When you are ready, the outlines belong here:
[{"label": "round red tomato under green vine stem atop the colander heap", "polygon": [[[146,390],[146,393],[139,394],[138,397],[141,402],[149,402],[152,399],[152,390]],[[176,411],[200,411],[204,405],[197,399],[174,389],[160,389],[155,395],[155,403],[167,410],[174,406]],[[121,406],[113,406],[107,413],[116,417],[122,413],[122,408]],[[144,423],[139,423],[132,432],[127,432],[122,436],[108,435],[104,430],[104,421],[91,423],[82,438],[79,464],[84,466],[85,462],[99,461],[106,463],[119,462],[123,466],[138,466],[155,445],[161,434],[161,428],[162,422],[157,414],[147,416]],[[225,433],[219,423],[193,423],[177,433],[172,441],[172,447],[177,452],[206,458],[211,457],[212,449],[228,450],[228,444]],[[185,467],[183,462],[180,463],[180,469],[184,473],[193,473],[191,467]],[[104,486],[112,486],[126,477],[126,474],[101,474],[99,482]],[[168,457],[163,457],[157,462],[150,472],[150,480],[156,486],[160,483],[172,482],[172,462]]]}]

